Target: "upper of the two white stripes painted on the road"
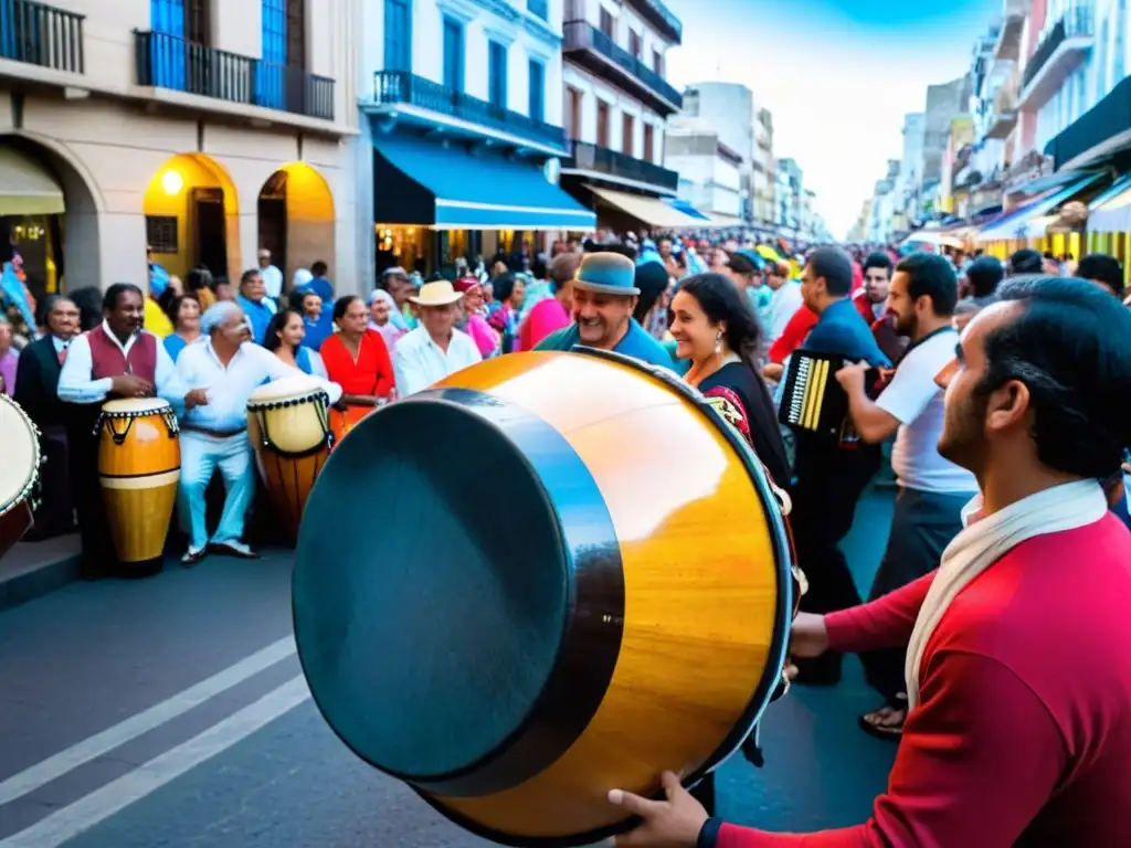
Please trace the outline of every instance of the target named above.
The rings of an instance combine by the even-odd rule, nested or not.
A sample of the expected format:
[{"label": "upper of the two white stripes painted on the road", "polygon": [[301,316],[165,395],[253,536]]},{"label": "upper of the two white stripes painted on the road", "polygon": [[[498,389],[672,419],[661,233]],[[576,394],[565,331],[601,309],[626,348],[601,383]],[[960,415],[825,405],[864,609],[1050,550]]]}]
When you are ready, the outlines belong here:
[{"label": "upper of the two white stripes painted on the road", "polygon": [[60,751],[58,754],[53,754],[35,765],[28,767],[17,775],[12,775],[0,784],[0,805],[35,791],[41,786],[50,784],[52,780],[77,769],[83,763],[102,756],[119,745],[123,745],[130,739],[148,733],[166,721],[184,715],[193,707],[198,707],[222,692],[243,683],[264,669],[286,659],[294,652],[294,637],[279,639],[277,642],[252,654],[250,657],[244,657],[235,665],[228,666],[223,672],[214,674],[211,677],[193,686],[189,686],[172,698],[138,712],[124,721],[120,721],[102,733],[89,736],[71,745],[66,751]]}]

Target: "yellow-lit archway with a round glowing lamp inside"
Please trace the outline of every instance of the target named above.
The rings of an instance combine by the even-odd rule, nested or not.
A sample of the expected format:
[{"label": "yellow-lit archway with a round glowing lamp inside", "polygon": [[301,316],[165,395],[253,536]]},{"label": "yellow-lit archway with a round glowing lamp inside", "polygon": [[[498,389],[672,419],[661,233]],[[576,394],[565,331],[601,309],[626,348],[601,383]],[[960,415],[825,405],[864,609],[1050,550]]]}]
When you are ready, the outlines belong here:
[{"label": "yellow-lit archway with a round glowing lamp inside", "polygon": [[240,205],[224,167],[200,153],[176,154],[145,192],[146,242],[153,261],[184,277],[199,266],[214,276],[240,275]]}]

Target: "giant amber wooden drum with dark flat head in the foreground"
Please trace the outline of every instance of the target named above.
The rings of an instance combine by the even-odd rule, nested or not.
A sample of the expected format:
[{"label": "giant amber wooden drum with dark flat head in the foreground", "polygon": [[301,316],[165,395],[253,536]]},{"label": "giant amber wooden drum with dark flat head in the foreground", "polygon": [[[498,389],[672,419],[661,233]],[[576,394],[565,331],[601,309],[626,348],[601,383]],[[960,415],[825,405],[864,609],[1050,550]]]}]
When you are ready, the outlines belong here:
[{"label": "giant amber wooden drum with dark flat head in the foreground", "polygon": [[694,390],[579,349],[487,360],[361,422],[307,503],[294,632],[360,758],[507,845],[629,829],[782,681],[794,594],[754,455]]}]

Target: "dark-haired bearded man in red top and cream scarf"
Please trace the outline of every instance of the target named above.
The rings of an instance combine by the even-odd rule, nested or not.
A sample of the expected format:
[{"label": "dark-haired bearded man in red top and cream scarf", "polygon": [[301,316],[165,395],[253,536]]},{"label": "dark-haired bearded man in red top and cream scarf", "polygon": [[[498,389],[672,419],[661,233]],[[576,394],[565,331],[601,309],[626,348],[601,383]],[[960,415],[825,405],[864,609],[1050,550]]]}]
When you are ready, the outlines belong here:
[{"label": "dark-haired bearded man in red top and cream scarf", "polygon": [[939,451],[981,488],[940,568],[871,604],[798,616],[795,656],[908,646],[910,710],[872,817],[774,834],[613,790],[622,846],[1126,845],[1131,536],[1097,481],[1131,443],[1131,313],[1081,280],[1020,279],[942,374]]}]

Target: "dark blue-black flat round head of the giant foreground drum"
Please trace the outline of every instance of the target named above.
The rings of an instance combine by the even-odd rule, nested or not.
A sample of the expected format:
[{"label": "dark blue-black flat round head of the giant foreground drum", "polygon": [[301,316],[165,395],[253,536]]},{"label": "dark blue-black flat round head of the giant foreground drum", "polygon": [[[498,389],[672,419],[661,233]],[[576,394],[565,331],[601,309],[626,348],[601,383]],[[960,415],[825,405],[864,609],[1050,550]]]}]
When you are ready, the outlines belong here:
[{"label": "dark blue-black flat round head of the giant foreground drum", "polygon": [[561,539],[526,457],[460,406],[394,404],[338,444],[302,521],[295,639],[359,756],[448,776],[523,725],[563,640]]}]

